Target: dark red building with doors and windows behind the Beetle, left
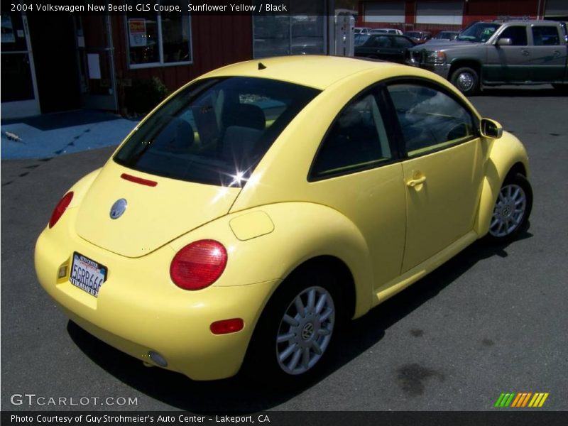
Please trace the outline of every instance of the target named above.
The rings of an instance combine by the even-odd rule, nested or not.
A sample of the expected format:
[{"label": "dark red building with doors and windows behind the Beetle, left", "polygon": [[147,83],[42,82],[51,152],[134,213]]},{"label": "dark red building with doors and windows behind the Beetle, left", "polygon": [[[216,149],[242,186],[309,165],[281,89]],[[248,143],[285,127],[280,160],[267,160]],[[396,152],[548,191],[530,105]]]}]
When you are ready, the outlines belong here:
[{"label": "dark red building with doors and windows behind the Beetle, left", "polygon": [[334,53],[333,0],[313,1],[305,15],[40,13],[2,5],[4,119],[80,108],[124,111],[137,80],[157,77],[174,90],[232,62]]}]

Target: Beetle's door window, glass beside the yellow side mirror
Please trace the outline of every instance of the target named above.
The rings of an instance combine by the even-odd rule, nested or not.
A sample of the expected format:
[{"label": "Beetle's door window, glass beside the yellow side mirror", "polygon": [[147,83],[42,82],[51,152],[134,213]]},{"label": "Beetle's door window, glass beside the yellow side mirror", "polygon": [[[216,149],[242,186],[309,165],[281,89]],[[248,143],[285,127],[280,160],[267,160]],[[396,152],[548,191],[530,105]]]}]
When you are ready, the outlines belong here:
[{"label": "Beetle's door window, glass beside the yellow side mirror", "polygon": [[469,111],[437,89],[420,84],[392,84],[388,94],[409,157],[454,146],[475,136]]}]

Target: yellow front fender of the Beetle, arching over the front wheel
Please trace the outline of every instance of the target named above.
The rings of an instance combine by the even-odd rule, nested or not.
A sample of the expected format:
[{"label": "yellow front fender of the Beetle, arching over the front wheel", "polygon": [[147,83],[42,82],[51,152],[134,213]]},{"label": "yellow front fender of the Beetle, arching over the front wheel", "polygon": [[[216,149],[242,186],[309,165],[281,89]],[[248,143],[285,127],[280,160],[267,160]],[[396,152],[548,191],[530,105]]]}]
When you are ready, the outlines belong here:
[{"label": "yellow front fender of the Beetle, arching over the front wheel", "polygon": [[506,178],[520,173],[530,178],[528,155],[522,143],[508,132],[503,137],[491,142],[491,148],[486,163],[486,173],[481,187],[479,211],[475,231],[479,237],[489,231],[493,206]]}]

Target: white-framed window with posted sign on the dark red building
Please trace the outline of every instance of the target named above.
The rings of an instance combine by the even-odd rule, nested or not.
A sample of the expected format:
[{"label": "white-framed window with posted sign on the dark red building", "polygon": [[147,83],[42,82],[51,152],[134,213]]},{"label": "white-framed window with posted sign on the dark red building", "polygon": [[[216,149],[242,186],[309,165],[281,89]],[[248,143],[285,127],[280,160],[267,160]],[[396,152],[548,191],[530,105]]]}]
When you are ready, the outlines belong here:
[{"label": "white-framed window with posted sign on the dark red building", "polygon": [[191,23],[186,14],[129,12],[126,32],[131,68],[192,62]]}]

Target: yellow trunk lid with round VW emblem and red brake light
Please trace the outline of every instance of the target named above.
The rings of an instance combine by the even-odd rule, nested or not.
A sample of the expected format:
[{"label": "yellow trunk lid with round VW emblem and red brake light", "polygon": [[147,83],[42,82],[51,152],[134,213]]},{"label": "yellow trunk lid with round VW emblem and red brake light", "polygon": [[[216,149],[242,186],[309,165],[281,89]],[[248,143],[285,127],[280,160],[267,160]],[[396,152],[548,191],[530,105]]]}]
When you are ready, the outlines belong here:
[{"label": "yellow trunk lid with round VW emblem and red brake light", "polygon": [[[125,180],[122,173],[156,185]],[[109,160],[80,203],[76,231],[102,249],[136,258],[224,216],[239,192],[240,188],[148,175]],[[124,213],[111,219],[111,207],[123,198]]]}]

